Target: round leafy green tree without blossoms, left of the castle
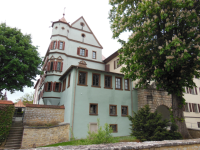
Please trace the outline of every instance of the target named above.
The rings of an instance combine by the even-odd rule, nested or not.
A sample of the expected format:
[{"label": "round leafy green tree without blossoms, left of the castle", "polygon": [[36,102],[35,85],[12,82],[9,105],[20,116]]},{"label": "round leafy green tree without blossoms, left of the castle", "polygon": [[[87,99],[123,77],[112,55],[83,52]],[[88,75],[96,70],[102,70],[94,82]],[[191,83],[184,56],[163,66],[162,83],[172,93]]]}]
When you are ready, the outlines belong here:
[{"label": "round leafy green tree without blossoms, left of the castle", "polygon": [[3,89],[13,93],[34,85],[32,80],[42,73],[37,49],[32,45],[31,35],[0,24],[0,96]]}]

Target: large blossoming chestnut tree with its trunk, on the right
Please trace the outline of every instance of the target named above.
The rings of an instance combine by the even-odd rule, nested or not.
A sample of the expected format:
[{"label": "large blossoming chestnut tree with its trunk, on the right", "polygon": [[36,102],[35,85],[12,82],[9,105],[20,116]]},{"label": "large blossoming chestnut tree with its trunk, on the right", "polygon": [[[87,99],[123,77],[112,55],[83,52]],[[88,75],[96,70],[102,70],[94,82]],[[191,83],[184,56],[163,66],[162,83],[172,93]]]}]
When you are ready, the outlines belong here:
[{"label": "large blossoming chestnut tree with its trunk, on the right", "polygon": [[183,116],[184,87],[193,88],[200,77],[199,0],[110,0],[113,38],[125,31],[119,64],[125,78],[138,79],[136,87],[155,81],[172,94],[172,110],[178,131],[190,138]]}]

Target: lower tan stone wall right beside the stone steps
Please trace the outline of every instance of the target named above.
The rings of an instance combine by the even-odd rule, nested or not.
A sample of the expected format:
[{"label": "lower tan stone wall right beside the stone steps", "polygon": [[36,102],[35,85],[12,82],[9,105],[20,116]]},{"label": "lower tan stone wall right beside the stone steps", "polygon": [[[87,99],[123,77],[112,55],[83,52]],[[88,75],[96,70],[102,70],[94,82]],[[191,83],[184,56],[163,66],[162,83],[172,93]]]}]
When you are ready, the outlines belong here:
[{"label": "lower tan stone wall right beside the stone steps", "polygon": [[35,148],[66,141],[69,141],[68,123],[52,127],[24,126],[21,148]]}]

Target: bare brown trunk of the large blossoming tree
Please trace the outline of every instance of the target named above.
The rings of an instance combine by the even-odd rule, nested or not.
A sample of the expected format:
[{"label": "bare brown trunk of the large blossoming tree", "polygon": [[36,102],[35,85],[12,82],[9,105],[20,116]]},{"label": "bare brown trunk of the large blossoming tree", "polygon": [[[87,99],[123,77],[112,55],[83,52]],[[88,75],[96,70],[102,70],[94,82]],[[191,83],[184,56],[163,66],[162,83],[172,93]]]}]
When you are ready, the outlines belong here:
[{"label": "bare brown trunk of the large blossoming tree", "polygon": [[[190,133],[185,124],[185,117],[183,115],[183,108],[179,108],[181,105],[181,97],[178,97],[175,93],[172,94],[172,111],[175,119],[175,123],[178,126],[178,132],[181,133],[184,139],[191,139]],[[180,119],[184,119],[181,121]]]}]

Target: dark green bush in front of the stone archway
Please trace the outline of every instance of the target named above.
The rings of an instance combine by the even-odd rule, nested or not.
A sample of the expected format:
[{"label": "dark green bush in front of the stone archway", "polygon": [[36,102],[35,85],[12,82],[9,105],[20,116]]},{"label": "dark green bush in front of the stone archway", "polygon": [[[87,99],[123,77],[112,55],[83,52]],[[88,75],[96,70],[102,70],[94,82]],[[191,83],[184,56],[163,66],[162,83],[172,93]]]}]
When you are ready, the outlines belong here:
[{"label": "dark green bush in front of the stone archway", "polygon": [[131,124],[131,135],[135,136],[140,141],[162,141],[182,139],[182,136],[177,132],[177,125],[172,123],[170,130],[167,130],[169,120],[162,120],[161,114],[157,111],[150,112],[148,105],[134,112],[134,117],[128,116]]}]

